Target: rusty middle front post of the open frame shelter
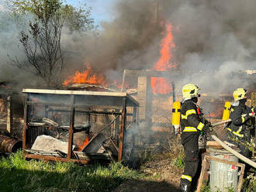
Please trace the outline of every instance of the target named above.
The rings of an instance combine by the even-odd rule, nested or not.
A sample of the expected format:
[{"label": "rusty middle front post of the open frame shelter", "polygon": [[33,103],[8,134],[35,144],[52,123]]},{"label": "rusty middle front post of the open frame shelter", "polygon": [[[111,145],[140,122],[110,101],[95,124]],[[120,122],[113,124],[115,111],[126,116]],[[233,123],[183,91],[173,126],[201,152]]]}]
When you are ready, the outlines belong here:
[{"label": "rusty middle front post of the open frame shelter", "polygon": [[68,131],[68,149],[67,149],[67,159],[71,159],[72,155],[72,145],[74,137],[74,95],[71,95],[71,112],[70,112],[70,122]]}]

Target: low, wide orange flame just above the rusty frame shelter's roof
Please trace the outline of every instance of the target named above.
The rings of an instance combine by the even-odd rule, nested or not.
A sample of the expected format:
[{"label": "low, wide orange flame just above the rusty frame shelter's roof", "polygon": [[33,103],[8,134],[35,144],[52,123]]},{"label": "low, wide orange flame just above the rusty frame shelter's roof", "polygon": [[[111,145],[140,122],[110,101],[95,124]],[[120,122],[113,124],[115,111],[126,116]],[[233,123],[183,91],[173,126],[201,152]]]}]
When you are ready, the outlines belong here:
[{"label": "low, wide orange flame just above the rusty frame shelter's roof", "polygon": [[63,84],[65,86],[68,84],[95,84],[107,86],[106,77],[104,75],[94,73],[90,64],[87,64],[86,67],[87,69],[84,72],[76,71],[74,76],[68,77]]}]

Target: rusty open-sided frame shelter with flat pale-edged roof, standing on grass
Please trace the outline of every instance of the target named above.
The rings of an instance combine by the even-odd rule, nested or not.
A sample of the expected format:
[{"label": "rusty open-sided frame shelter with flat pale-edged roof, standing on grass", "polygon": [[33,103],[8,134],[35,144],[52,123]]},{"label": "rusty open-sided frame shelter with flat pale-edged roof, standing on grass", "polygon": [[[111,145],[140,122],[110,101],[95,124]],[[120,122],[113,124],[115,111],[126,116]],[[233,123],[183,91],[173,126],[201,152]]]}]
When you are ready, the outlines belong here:
[{"label": "rusty open-sided frame shelter with flat pale-edged roof, standing on grass", "polygon": [[[74,163],[88,163],[86,159],[78,159],[73,151],[74,133],[85,131],[85,129],[76,129],[74,126],[77,121],[78,112],[82,114],[97,115],[116,115],[121,122],[118,127],[117,145],[118,160],[123,157],[123,142],[126,134],[126,117],[130,115],[130,122],[137,121],[138,102],[129,94],[119,92],[99,92],[99,91],[66,91],[66,90],[43,90],[43,89],[23,89],[25,94],[24,104],[24,127],[22,135],[23,157],[32,159],[60,160],[64,162],[72,161]],[[37,111],[36,111],[37,108]],[[126,108],[131,108],[129,114]],[[39,109],[39,110],[38,110]],[[68,126],[68,149],[66,157],[57,157],[50,155],[40,155],[40,153],[31,154],[31,147],[36,137],[43,135],[47,125],[40,124],[43,118],[51,118],[50,111],[58,111],[58,114],[64,113],[69,119]],[[40,115],[36,115],[36,112]],[[57,117],[61,118],[61,117]],[[37,124],[35,122],[38,122]],[[48,126],[49,127],[49,126]],[[86,151],[85,151],[86,153]],[[49,153],[48,153],[49,154]]]}]

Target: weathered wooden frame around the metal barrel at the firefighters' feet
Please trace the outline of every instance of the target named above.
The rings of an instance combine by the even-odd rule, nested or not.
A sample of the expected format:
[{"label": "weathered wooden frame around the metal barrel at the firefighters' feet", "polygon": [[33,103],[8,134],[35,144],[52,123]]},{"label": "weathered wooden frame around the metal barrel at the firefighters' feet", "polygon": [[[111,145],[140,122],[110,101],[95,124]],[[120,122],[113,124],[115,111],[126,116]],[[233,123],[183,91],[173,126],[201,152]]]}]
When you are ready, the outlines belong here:
[{"label": "weathered wooden frame around the metal barrel at the firefighters' feet", "polygon": [[204,186],[204,183],[206,183],[206,181],[209,180],[209,173],[208,173],[209,161],[217,161],[217,162],[220,162],[220,163],[226,163],[226,164],[229,164],[229,165],[234,165],[234,166],[240,167],[240,176],[239,176],[239,181],[237,183],[237,192],[240,192],[240,190],[242,188],[242,185],[243,185],[245,165],[242,164],[242,163],[227,161],[227,160],[219,159],[219,158],[212,157],[212,156],[205,156],[203,161],[202,161],[202,171],[201,171],[201,174],[200,174],[200,177],[199,177],[199,182],[198,182],[196,192],[200,192],[202,187]]}]

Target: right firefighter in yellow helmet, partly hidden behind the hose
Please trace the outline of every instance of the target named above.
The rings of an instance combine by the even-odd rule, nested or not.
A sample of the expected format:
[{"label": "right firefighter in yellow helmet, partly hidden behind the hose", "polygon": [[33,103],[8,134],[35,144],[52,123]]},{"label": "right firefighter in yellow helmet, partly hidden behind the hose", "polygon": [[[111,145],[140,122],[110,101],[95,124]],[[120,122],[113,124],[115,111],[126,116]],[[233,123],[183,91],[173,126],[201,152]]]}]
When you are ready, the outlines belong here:
[{"label": "right firefighter in yellow helmet, partly hidden behind the hose", "polygon": [[[255,113],[255,108],[250,108],[245,105],[247,101],[247,90],[244,88],[237,88],[234,93],[234,102],[231,104],[230,118],[232,122],[227,125],[228,142],[237,145],[240,149],[240,153],[243,156],[249,157],[249,149],[242,145],[240,142],[250,142],[250,128],[251,124],[250,113]],[[237,140],[237,141],[236,141]],[[238,142],[239,141],[239,142]]]}]

